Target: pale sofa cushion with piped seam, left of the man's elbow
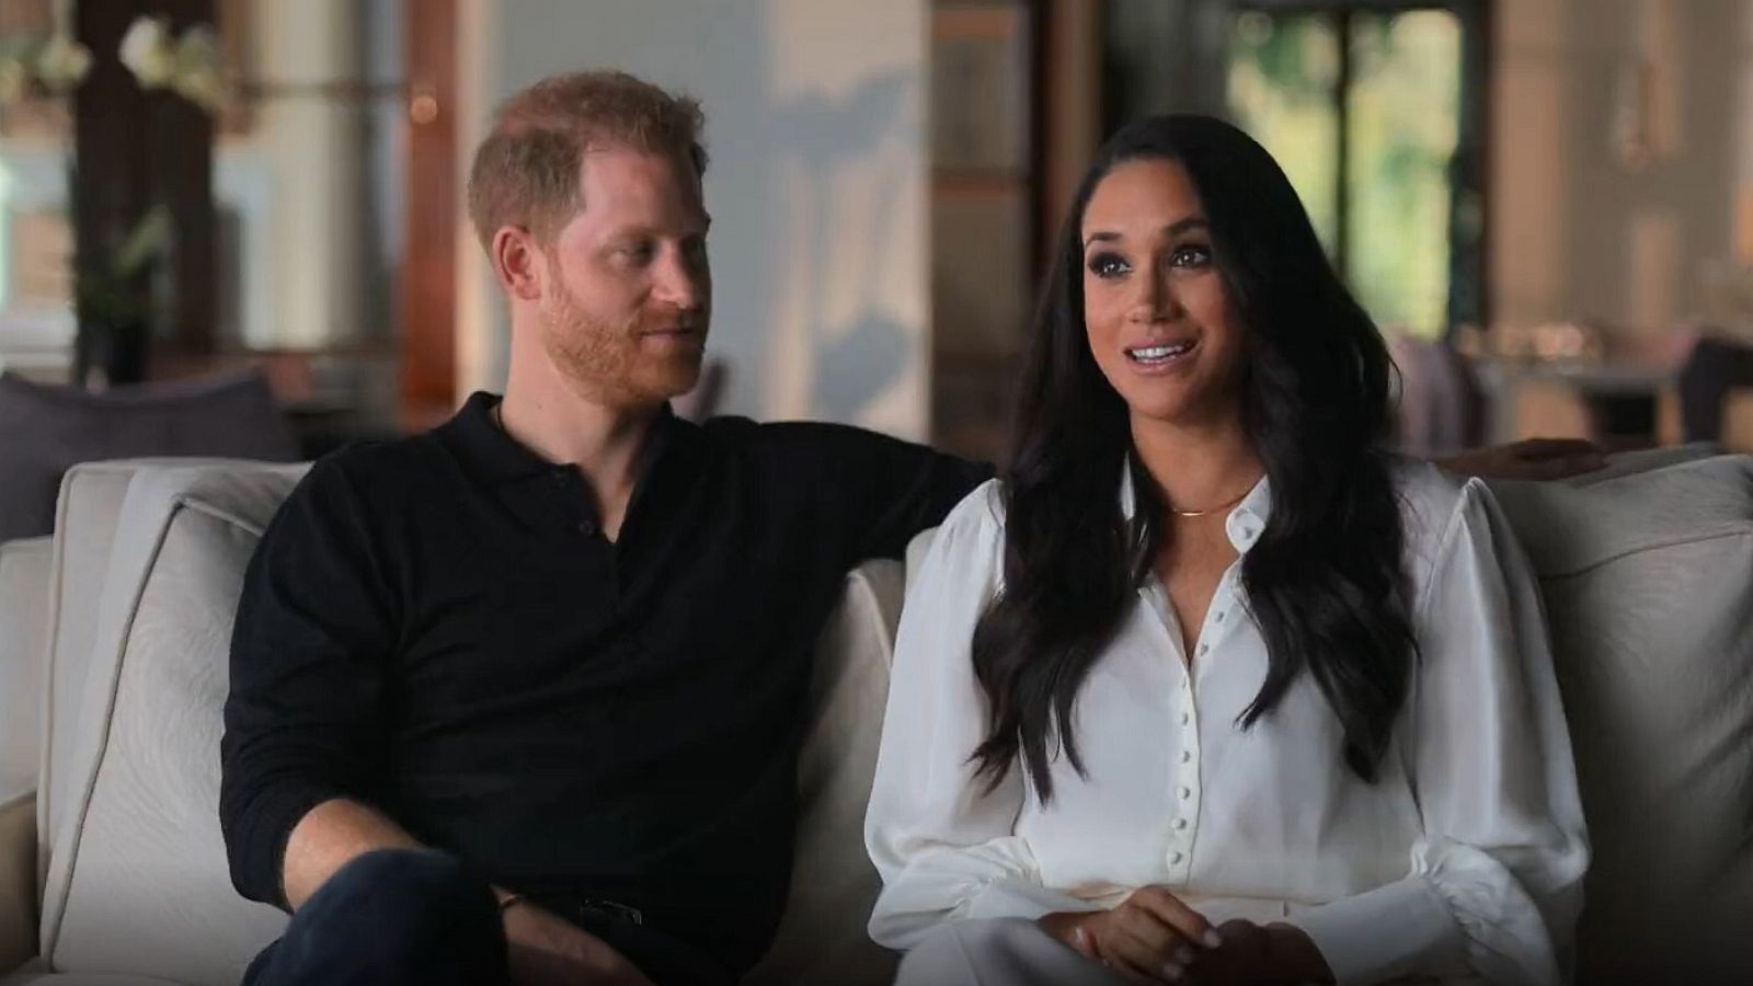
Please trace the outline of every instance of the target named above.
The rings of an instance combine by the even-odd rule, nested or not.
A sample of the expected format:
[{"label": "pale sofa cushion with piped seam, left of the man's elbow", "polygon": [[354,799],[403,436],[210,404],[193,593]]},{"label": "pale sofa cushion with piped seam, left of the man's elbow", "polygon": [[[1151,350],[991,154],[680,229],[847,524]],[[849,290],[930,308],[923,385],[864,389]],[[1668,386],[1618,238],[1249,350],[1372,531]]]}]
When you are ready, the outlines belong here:
[{"label": "pale sofa cushion with piped seam, left of the man's elbow", "polygon": [[67,825],[49,833],[42,954],[56,972],[231,986],[284,926],[231,890],[217,749],[244,567],[300,472],[160,467],[128,484],[86,611]]}]

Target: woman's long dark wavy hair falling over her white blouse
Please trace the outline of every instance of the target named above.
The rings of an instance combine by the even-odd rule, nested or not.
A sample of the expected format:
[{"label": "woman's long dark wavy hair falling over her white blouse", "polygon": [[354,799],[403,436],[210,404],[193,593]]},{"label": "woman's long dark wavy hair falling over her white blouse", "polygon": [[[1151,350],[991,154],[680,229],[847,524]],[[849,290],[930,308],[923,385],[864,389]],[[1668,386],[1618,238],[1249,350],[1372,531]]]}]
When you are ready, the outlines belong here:
[{"label": "woman's long dark wavy hair falling over her white blouse", "polygon": [[[973,761],[997,784],[1020,758],[1043,802],[1059,749],[1083,770],[1073,728],[1078,689],[1153,577],[1167,537],[1166,504],[1136,461],[1127,407],[1096,365],[1083,325],[1083,211],[1115,165],[1139,158],[1187,168],[1245,326],[1241,416],[1273,509],[1241,565],[1269,661],[1239,721],[1267,716],[1308,672],[1343,728],[1336,753],[1373,782],[1416,660],[1399,498],[1381,451],[1387,346],[1334,275],[1278,163],[1204,116],[1120,130],[1059,233],[1003,474],[1004,588],[973,637],[989,704]],[[1118,500],[1129,460],[1132,521]]]}]

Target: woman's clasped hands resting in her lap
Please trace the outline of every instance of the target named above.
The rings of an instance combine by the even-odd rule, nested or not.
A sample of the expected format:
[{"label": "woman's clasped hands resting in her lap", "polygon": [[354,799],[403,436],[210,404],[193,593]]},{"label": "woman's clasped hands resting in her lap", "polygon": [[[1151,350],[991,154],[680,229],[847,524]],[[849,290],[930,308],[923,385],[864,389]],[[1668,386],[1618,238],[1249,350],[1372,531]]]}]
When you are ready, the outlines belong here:
[{"label": "woman's clasped hands resting in her lap", "polygon": [[1059,912],[1041,928],[1131,982],[1178,982],[1197,954],[1220,944],[1203,914],[1160,886],[1146,886],[1113,911]]}]

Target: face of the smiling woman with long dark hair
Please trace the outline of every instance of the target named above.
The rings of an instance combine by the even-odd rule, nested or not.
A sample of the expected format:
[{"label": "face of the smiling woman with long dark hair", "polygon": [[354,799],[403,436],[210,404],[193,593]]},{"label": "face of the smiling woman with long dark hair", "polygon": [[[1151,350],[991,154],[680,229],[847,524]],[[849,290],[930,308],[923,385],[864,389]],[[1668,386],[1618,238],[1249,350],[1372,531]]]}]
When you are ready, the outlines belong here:
[{"label": "face of the smiling woman with long dark hair", "polygon": [[1083,211],[1083,325],[1134,421],[1239,412],[1243,326],[1180,161],[1115,165]]}]

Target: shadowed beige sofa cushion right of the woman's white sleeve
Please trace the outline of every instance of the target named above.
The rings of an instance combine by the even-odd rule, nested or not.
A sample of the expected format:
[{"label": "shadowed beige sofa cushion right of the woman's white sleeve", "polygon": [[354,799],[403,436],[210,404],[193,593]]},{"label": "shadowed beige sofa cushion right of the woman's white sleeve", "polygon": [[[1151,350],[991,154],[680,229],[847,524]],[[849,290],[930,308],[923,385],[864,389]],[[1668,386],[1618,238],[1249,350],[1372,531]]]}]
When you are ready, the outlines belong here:
[{"label": "shadowed beige sofa cushion right of the woman's white sleeve", "polygon": [[1579,982],[1753,953],[1753,458],[1494,489],[1541,581],[1593,863]]}]

